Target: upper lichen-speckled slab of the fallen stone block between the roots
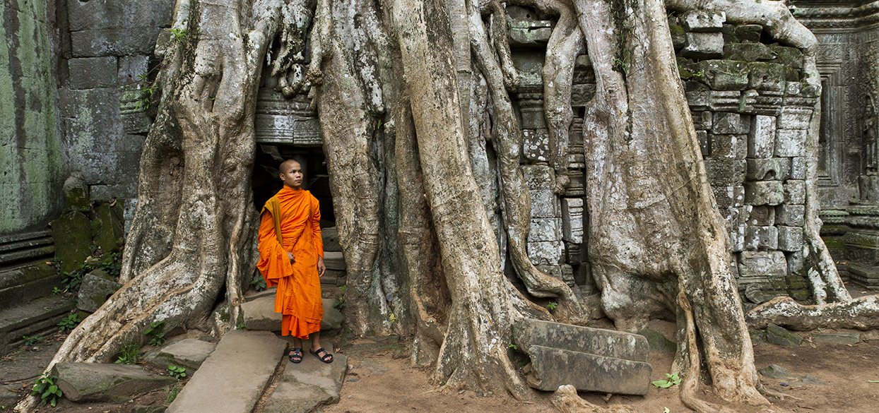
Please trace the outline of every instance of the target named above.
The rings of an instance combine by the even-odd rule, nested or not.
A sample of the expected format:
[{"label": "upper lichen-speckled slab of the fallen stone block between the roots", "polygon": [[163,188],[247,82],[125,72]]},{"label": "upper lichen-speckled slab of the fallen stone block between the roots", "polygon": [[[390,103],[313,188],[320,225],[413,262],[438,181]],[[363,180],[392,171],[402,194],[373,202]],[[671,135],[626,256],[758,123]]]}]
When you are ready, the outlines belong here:
[{"label": "upper lichen-speckled slab of the fallen stone block between the roots", "polygon": [[519,349],[526,352],[528,347],[540,345],[614,359],[644,362],[647,361],[650,354],[650,344],[647,342],[647,338],[638,334],[580,327],[561,322],[545,322],[532,318],[525,318],[514,323],[512,337]]}]

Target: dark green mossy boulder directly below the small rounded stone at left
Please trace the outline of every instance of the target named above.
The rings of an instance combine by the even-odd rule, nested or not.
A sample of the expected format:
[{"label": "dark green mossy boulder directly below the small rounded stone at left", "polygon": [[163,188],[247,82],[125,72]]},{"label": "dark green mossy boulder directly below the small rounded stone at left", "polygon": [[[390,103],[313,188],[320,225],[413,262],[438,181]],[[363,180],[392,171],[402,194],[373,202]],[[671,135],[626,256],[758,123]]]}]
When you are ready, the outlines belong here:
[{"label": "dark green mossy boulder directly below the small rounded stone at left", "polygon": [[91,221],[78,211],[62,214],[52,222],[52,238],[61,272],[72,272],[91,254]]}]

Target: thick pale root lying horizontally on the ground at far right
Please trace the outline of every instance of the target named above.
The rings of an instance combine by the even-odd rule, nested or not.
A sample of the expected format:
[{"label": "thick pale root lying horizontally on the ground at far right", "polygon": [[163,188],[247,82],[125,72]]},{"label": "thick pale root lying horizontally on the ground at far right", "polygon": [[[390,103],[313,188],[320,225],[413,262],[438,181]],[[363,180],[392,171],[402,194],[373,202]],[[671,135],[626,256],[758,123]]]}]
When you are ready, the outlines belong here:
[{"label": "thick pale root lying horizontally on the ground at far right", "polygon": [[790,297],[776,297],[745,315],[752,329],[765,329],[770,322],[791,330],[879,328],[879,295],[854,300],[804,306]]}]

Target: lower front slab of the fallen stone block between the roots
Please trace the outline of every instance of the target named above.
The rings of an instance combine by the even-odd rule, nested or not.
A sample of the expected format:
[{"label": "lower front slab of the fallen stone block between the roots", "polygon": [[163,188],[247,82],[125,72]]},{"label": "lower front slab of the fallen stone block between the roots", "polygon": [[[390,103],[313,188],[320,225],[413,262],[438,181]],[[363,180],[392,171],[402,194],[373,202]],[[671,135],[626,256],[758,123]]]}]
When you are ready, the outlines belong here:
[{"label": "lower front slab of the fallen stone block between the roots", "polygon": [[650,390],[650,363],[541,345],[532,345],[528,354],[531,368],[526,379],[532,388],[556,391],[570,384],[580,391],[614,395],[646,395]]}]

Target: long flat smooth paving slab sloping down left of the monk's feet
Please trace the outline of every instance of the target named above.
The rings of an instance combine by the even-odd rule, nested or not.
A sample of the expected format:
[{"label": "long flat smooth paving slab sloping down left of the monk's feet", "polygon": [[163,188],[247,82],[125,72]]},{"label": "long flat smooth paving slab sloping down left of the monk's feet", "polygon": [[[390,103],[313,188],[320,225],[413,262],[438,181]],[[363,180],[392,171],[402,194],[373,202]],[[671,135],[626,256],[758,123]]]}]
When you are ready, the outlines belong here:
[{"label": "long flat smooth paving slab sloping down left of the monk's feet", "polygon": [[227,332],[167,413],[251,413],[286,352],[287,341],[270,332]]}]

